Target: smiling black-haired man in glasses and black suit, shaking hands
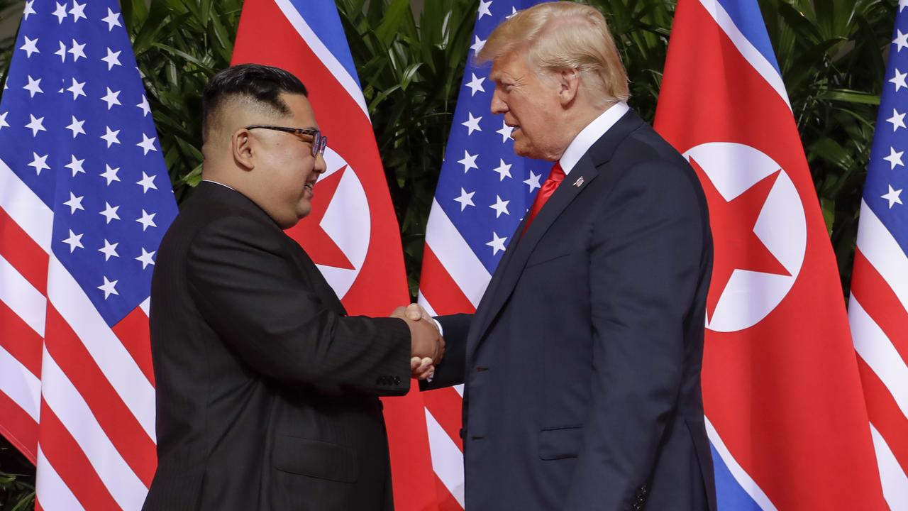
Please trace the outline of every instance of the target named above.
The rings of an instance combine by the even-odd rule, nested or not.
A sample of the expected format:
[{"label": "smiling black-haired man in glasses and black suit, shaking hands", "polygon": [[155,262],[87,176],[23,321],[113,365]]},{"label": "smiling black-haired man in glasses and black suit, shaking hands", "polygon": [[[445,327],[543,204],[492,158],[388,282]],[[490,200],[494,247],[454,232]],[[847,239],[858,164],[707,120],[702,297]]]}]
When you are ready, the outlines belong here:
[{"label": "smiling black-haired man in glasses and black suit, shaking hands", "polygon": [[346,316],[283,233],[325,170],[299,79],[235,66],[203,102],[203,182],[153,276],[158,468],[143,509],[391,509],[377,396],[408,391],[411,354],[439,359],[438,330]]}]

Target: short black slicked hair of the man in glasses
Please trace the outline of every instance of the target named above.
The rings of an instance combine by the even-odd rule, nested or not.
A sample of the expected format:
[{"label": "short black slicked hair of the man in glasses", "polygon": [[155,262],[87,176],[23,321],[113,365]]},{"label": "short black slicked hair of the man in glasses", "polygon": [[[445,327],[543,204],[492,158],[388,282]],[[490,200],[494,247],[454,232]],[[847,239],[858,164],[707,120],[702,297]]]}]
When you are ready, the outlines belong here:
[{"label": "short black slicked hair of the man in glasses", "polygon": [[281,94],[308,96],[306,86],[290,72],[261,64],[233,65],[212,76],[202,93],[202,138],[208,138],[214,115],[228,100],[242,98],[277,115],[290,115]]}]

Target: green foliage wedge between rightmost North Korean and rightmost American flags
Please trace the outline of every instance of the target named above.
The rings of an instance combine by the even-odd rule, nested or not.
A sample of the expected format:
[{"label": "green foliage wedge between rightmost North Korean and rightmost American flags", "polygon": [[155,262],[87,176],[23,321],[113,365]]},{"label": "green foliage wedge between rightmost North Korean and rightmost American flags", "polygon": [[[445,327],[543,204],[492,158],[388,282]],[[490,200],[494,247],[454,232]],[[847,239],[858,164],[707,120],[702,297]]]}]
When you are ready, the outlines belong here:
[{"label": "green foliage wedge between rightmost North Korean and rightmost American flags", "polygon": [[896,2],[761,0],[845,296]]}]

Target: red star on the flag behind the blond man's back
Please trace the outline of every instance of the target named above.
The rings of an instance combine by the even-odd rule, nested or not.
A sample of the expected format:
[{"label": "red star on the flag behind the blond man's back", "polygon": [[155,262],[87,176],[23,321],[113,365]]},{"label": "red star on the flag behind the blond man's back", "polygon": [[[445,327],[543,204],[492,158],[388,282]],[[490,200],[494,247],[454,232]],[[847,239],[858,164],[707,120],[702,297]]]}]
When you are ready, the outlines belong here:
[{"label": "red star on the flag behind the blond man's back", "polygon": [[791,275],[754,232],[766,197],[782,169],[765,176],[741,195],[726,201],[694,158],[690,158],[690,165],[703,184],[706,202],[709,204],[709,224],[713,231],[713,281],[706,297],[706,317],[710,319],[736,269]]}]

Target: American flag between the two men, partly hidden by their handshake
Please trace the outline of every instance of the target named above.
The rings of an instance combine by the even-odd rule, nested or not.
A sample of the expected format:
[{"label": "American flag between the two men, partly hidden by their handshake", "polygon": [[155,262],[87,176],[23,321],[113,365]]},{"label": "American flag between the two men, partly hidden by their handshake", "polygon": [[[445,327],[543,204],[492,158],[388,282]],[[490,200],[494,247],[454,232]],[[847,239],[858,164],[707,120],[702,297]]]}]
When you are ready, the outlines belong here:
[{"label": "American flag between the two men, partly hidden by their handshake", "polygon": [[[505,18],[538,2],[480,0],[467,68],[426,229],[419,304],[430,314],[473,313],[550,162],[514,155],[511,128],[489,111],[495,85],[475,56]],[[442,510],[464,505],[462,386],[426,393],[432,467]]]}]

